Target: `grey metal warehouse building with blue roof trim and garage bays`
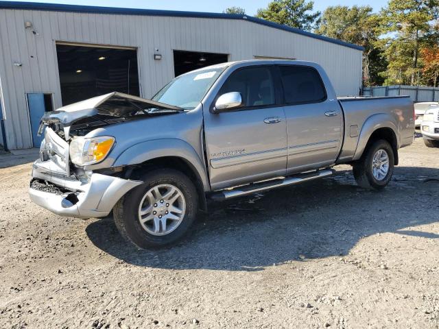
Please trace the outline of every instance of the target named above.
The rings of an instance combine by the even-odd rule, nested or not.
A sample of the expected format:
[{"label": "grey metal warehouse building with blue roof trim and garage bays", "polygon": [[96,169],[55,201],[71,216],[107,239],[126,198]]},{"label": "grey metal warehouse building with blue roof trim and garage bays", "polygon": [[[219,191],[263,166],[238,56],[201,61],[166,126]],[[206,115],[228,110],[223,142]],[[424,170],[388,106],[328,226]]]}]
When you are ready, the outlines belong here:
[{"label": "grey metal warehouse building with blue roof trim and garage bays", "polygon": [[38,146],[45,111],[121,91],[152,97],[219,62],[318,62],[337,95],[358,95],[362,48],[238,14],[0,2],[0,143]]}]

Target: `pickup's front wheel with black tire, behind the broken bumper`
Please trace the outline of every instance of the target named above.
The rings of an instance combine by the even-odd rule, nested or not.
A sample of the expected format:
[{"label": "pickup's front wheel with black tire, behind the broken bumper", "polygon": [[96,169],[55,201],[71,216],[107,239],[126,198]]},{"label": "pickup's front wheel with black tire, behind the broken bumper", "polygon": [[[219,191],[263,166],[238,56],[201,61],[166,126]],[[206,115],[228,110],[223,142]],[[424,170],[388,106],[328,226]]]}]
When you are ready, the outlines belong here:
[{"label": "pickup's front wheel with black tire, behind the broken bumper", "polygon": [[[197,216],[198,193],[195,186],[186,175],[174,169],[150,171],[143,175],[142,180],[143,184],[133,188],[113,208],[117,229],[123,238],[141,249],[175,243],[187,232]],[[167,197],[166,194],[171,193],[172,188],[174,194]],[[178,197],[173,201],[176,195]],[[163,204],[160,203],[162,200]],[[176,209],[181,213],[174,211]],[[143,213],[145,215],[141,216]]]}]

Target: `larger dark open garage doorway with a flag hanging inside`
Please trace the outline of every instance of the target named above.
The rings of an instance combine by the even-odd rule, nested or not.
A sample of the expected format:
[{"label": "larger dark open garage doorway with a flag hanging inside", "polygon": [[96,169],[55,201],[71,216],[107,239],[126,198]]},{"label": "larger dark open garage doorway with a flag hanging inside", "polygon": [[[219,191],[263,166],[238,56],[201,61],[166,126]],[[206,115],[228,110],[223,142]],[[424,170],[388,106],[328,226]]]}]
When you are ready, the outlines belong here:
[{"label": "larger dark open garage doorway with a flag hanging inside", "polygon": [[56,45],[62,105],[112,91],[139,96],[136,49]]}]

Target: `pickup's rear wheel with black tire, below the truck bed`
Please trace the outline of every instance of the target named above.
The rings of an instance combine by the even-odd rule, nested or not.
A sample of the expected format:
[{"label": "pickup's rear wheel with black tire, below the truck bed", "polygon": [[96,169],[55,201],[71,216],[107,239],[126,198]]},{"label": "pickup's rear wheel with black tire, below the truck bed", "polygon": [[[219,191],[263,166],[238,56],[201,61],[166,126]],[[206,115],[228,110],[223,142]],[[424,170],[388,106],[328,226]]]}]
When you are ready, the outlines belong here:
[{"label": "pickup's rear wheel with black tire, below the truck bed", "polygon": [[[381,150],[385,151],[385,154],[387,154],[388,168],[385,172],[385,175],[382,173],[382,171],[379,171],[379,169],[377,169],[377,171],[379,171],[378,175],[380,175],[380,177],[377,178],[374,175],[374,169],[372,169],[372,167],[374,166],[374,156],[378,156],[378,158],[380,158],[377,152]],[[384,156],[384,153],[381,152],[381,155]],[[382,168],[383,167],[381,167],[381,169]],[[369,145],[364,151],[363,156],[361,156],[361,158],[357,162],[355,162],[355,164],[353,164],[353,174],[355,181],[361,188],[366,188],[368,190],[381,190],[387,184],[389,184],[390,180],[392,179],[393,169],[393,149],[392,146],[390,146],[390,143],[384,140],[378,140]]]}]

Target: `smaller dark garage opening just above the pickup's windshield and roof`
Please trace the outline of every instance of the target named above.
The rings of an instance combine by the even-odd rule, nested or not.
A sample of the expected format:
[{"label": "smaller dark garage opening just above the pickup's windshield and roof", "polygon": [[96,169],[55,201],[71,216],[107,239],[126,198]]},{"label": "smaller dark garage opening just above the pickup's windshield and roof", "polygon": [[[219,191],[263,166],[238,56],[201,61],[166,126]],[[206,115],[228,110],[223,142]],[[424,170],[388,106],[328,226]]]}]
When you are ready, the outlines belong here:
[{"label": "smaller dark garage opening just above the pickup's windshield and roof", "polygon": [[174,73],[176,77],[202,67],[228,61],[226,53],[198,53],[174,50]]}]

